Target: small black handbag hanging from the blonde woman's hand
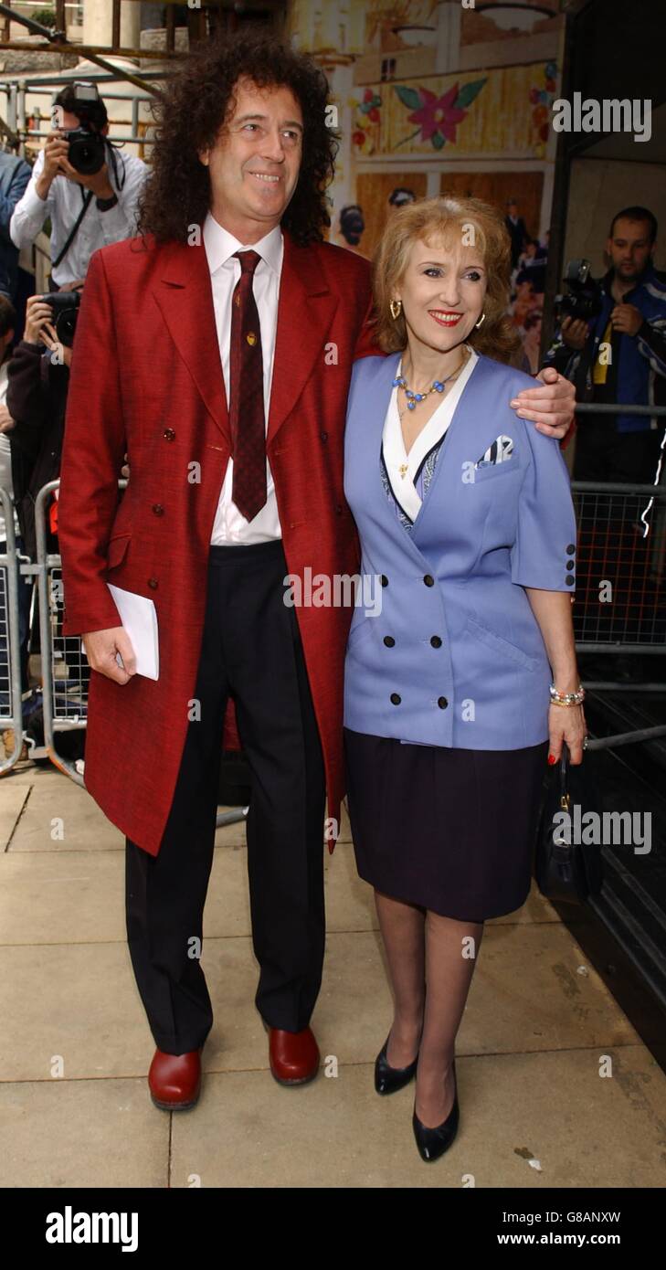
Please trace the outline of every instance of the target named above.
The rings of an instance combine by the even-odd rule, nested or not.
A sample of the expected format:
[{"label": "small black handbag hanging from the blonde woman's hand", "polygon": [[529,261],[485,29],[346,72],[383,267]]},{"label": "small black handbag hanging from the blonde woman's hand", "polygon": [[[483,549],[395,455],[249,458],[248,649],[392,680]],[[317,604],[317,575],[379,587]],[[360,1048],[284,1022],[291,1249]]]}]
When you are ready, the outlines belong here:
[{"label": "small black handbag hanging from the blonde woman's hand", "polygon": [[[599,894],[604,883],[601,805],[596,786],[590,772],[583,771],[585,767],[585,758],[574,767],[569,763],[569,751],[563,744],[559,763],[548,773],[550,781],[536,836],[536,885],[547,899],[569,904],[585,903],[588,895]],[[586,836],[581,832],[582,818],[588,812],[597,817],[596,842],[581,841]]]}]

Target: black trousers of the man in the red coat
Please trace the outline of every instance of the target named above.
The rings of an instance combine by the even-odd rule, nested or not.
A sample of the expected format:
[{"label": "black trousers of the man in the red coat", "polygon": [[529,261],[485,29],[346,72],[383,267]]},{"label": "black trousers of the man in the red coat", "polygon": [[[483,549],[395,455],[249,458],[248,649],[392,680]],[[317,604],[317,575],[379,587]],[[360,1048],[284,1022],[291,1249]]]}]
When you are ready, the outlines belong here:
[{"label": "black trousers of the man in the red coat", "polygon": [[[126,839],[127,939],[155,1044],[203,1044],[212,1006],[200,964],[228,696],[252,770],[247,820],[255,1005],[308,1026],[324,959],[324,765],[282,542],[210,549],[196,698],[156,856]],[[194,715],[196,707],[191,711]],[[224,955],[224,946],[222,946]]]}]

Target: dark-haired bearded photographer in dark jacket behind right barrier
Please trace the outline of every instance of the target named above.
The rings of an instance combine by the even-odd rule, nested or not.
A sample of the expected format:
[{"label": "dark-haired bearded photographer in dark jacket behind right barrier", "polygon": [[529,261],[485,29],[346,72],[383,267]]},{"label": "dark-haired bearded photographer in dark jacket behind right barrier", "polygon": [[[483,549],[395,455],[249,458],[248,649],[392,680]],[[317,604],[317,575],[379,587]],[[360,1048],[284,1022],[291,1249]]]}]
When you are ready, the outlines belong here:
[{"label": "dark-haired bearded photographer in dark jacket behind right barrier", "polygon": [[[606,243],[609,272],[564,297],[566,316],[545,361],[582,401],[666,404],[666,278],[652,263],[656,237],[646,207],[618,212]],[[580,415],[573,478],[652,484],[662,436],[663,422],[647,415]]]}]

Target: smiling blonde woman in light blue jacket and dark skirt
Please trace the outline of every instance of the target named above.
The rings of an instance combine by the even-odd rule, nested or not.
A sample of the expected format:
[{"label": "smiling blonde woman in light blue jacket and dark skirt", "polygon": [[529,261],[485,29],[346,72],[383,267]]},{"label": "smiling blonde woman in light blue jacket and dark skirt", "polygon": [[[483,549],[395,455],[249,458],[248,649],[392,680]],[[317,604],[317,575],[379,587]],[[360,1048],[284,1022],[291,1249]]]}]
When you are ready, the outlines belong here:
[{"label": "smiling blonde woman in light blue jacket and dark skirt", "polygon": [[455,1138],[455,1038],[484,922],[527,897],[547,757],[585,738],[558,442],[511,406],[510,240],[478,199],[398,210],[375,262],[386,357],[353,370],[344,491],[381,612],[346,657],[348,808],[394,994],[380,1093],[416,1074],[423,1160]]}]

